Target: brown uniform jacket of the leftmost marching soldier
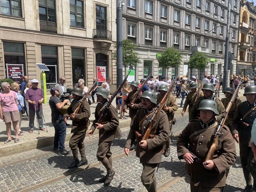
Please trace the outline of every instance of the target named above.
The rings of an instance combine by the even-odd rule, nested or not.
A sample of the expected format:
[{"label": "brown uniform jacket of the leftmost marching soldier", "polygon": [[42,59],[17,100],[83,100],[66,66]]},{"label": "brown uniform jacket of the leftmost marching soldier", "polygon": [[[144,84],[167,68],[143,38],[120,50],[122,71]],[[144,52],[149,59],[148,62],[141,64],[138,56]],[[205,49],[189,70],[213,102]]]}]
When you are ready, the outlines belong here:
[{"label": "brown uniform jacket of the leftmost marching soldier", "polygon": [[[67,108],[66,114],[64,114],[64,118],[69,117],[70,114],[74,113],[78,105],[79,103],[76,103],[76,100],[74,99],[71,102],[70,106]],[[91,116],[90,106],[88,101],[85,100],[78,114],[75,114],[75,120],[72,120],[71,133],[85,132],[90,125],[90,121],[89,121],[90,116]]]}]

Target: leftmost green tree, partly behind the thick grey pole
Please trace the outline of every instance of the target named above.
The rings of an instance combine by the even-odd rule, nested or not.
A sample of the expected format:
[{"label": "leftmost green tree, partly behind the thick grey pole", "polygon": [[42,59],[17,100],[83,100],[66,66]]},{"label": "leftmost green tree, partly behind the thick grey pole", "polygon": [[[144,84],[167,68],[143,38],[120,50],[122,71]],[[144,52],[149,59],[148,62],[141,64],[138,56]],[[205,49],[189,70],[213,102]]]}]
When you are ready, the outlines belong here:
[{"label": "leftmost green tree, partly behind the thick grey pole", "polygon": [[[140,56],[136,51],[137,45],[129,39],[122,40],[123,45],[123,67],[135,69],[135,67],[140,63]],[[116,49],[116,45],[114,46]],[[113,53],[112,59],[116,60],[116,51]]]}]

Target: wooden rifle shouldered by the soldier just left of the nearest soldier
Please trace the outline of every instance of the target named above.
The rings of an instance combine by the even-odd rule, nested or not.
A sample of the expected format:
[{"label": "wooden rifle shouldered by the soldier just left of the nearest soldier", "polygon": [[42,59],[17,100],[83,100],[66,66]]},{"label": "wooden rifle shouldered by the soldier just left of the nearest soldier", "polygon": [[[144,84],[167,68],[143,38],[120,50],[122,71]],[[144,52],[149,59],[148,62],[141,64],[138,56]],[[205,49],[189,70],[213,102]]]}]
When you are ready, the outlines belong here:
[{"label": "wooden rifle shouldered by the soldier just left of the nearest soldier", "polygon": [[163,96],[162,100],[160,101],[160,103],[158,103],[157,108],[154,111],[154,114],[152,115],[152,117],[149,120],[148,126],[147,126],[147,130],[145,132],[145,134],[143,135],[142,140],[146,140],[148,139],[148,136],[150,135],[150,132],[152,130],[152,126],[153,123],[155,122],[155,120],[157,119],[161,109],[163,108],[163,106],[165,105],[165,101],[167,100],[168,96],[172,93],[172,88],[174,85],[174,82],[176,82],[178,76],[175,77],[175,79],[173,80],[170,88],[168,89],[168,91],[165,93],[165,95]]}]

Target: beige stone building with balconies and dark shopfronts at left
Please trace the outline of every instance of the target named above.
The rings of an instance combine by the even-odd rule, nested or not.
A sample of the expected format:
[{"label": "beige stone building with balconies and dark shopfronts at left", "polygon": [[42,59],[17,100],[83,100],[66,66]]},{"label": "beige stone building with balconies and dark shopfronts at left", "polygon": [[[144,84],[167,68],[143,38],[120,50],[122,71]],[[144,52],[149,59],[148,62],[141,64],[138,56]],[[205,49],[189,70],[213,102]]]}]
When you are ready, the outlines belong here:
[{"label": "beige stone building with balconies and dark shopfronts at left", "polygon": [[48,89],[61,76],[67,86],[79,78],[91,86],[99,67],[115,84],[115,10],[115,0],[0,0],[0,79],[6,64],[40,79],[35,63],[44,63]]}]

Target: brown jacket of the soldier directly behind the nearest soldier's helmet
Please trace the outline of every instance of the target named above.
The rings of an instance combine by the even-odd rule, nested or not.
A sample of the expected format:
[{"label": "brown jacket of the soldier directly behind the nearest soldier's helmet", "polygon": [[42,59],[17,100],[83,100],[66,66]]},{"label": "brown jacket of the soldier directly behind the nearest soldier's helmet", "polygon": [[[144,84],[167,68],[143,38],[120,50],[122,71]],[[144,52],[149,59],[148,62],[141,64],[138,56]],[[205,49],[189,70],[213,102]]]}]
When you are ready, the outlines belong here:
[{"label": "brown jacket of the soldier directly behind the nearest soldier's helmet", "polygon": [[[199,117],[199,113],[198,113],[197,109],[199,108],[199,103],[204,99],[205,99],[204,97],[200,97],[197,99],[197,101],[195,101],[195,104],[189,113],[189,121],[195,120],[195,119],[197,119],[197,117]],[[218,111],[219,111],[219,115],[216,115],[216,117],[217,117],[217,121],[220,121],[221,116],[224,114],[225,108],[224,108],[221,100],[217,99],[216,102],[217,102]]]}]

